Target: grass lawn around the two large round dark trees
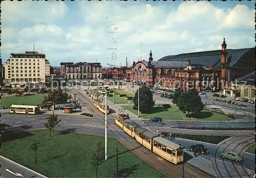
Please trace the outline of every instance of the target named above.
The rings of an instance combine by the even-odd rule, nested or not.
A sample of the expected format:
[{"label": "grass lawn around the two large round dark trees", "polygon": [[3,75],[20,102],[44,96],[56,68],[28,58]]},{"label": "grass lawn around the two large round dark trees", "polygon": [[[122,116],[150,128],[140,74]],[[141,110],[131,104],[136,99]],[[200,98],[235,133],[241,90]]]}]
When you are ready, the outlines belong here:
[{"label": "grass lawn around the two large round dark trees", "polygon": [[[152,117],[161,117],[166,120],[197,120],[197,121],[228,121],[232,118],[219,113],[203,110],[200,113],[189,114],[189,118],[181,111],[177,111],[176,105],[170,105],[170,108],[163,108],[161,105],[155,105],[151,114],[141,114],[144,119],[150,119]],[[133,106],[122,106],[123,108],[137,114],[138,110],[134,110]]]}]

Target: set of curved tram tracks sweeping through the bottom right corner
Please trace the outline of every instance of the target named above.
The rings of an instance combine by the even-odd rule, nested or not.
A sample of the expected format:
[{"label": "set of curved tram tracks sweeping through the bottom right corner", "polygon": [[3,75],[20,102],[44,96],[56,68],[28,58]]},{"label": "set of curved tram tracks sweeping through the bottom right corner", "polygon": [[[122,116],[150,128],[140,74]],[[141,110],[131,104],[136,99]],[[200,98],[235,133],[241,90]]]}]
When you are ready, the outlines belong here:
[{"label": "set of curved tram tracks sweeping through the bottom right corner", "polygon": [[[254,140],[254,138],[253,138],[252,136],[249,137],[249,138],[251,138],[251,139],[248,139],[248,137],[243,136],[243,137],[238,137],[238,139],[237,139],[237,138],[236,138],[236,139],[229,139],[229,140],[227,140],[226,142],[223,142],[222,144],[220,144],[220,145],[218,146],[218,148],[217,148],[216,151],[215,151],[214,159],[213,159],[213,161],[212,161],[212,165],[213,165],[214,170],[215,170],[215,172],[216,172],[216,174],[217,174],[218,177],[222,177],[222,178],[233,177],[233,176],[230,174],[230,172],[228,171],[224,159],[222,159],[221,163],[223,164],[223,167],[225,168],[225,173],[228,174],[228,175],[224,175],[225,173],[220,170],[220,166],[219,166],[218,163],[217,163],[217,160],[218,160],[218,159],[217,159],[217,154],[218,154],[218,152],[219,152],[220,154],[222,154],[222,152],[224,152],[231,144],[234,144],[235,142],[238,142],[238,141],[242,141],[243,139],[247,139],[247,140],[242,141],[241,143],[239,143],[236,147],[234,147],[234,148],[232,149],[232,151],[235,150],[238,146],[242,145],[243,143],[248,142],[248,141],[250,141],[250,140]],[[231,141],[231,142],[230,142],[230,141]],[[230,143],[229,143],[229,142],[230,142]],[[223,147],[223,144],[225,144],[225,143],[228,143],[228,144],[227,144],[226,146],[224,146],[224,150],[220,150],[220,148]],[[250,143],[250,144],[251,144],[251,143]],[[242,150],[241,150],[241,151],[242,151]],[[241,154],[241,151],[240,151],[240,154]],[[219,161],[219,160],[218,160],[218,161]],[[233,165],[234,169],[236,170],[238,176],[240,176],[240,177],[242,178],[242,176],[240,175],[240,173],[239,173],[237,167],[233,164],[233,162],[232,162],[232,165]],[[241,167],[245,170],[244,166],[241,166]],[[245,172],[246,172],[246,171],[245,171]],[[247,177],[250,177],[247,172],[246,172],[246,174],[247,174]]]}]

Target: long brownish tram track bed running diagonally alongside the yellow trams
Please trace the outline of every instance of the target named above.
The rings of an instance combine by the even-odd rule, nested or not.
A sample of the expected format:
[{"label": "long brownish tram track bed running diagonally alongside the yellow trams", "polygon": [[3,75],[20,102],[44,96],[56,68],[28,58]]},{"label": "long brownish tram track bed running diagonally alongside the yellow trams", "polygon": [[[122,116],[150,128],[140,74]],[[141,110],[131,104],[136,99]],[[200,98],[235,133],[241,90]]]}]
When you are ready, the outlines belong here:
[{"label": "long brownish tram track bed running diagonally alongside the yellow trams", "polygon": [[[77,97],[80,97],[80,100],[84,101],[84,104],[87,104],[87,108],[94,114],[94,116],[104,125],[104,115],[93,106],[92,100],[87,96],[84,96],[82,92],[75,92]],[[82,94],[81,94],[82,93]],[[115,117],[113,115],[108,115],[108,127],[110,132],[112,132],[119,142],[123,144],[126,148],[132,150],[135,155],[139,158],[145,160],[152,167],[157,168],[161,172],[165,173],[168,177],[182,177],[182,165],[175,165],[173,163],[168,162],[167,160],[157,156],[152,151],[140,145],[138,142],[131,141],[133,139],[129,135],[127,135],[124,131],[118,131],[117,126],[115,124]],[[192,165],[187,163],[184,165],[184,177],[214,177],[209,175],[208,173],[198,169]]]}]

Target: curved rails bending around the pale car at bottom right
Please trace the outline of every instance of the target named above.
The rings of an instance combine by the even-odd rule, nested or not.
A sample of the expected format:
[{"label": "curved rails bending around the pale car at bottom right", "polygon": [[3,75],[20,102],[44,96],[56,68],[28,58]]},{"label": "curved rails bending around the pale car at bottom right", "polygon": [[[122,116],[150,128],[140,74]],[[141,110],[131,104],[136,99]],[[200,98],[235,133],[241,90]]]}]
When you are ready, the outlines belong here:
[{"label": "curved rails bending around the pale car at bottom right", "polygon": [[[247,168],[242,163],[234,163],[233,161],[224,161],[224,159],[219,160],[217,159],[217,155],[220,155],[228,149],[228,147],[231,147],[232,144],[238,144],[237,146],[233,147],[232,151],[236,150],[238,147],[241,147],[241,152],[248,147],[251,143],[253,143],[255,138],[253,136],[250,137],[237,137],[237,138],[230,138],[226,142],[223,142],[220,144],[215,151],[215,156],[212,159],[212,165],[214,166],[215,172],[218,175],[218,177],[226,178],[226,177],[252,177],[250,173],[247,172]],[[223,146],[226,144],[225,146]],[[242,156],[242,155],[241,155]],[[228,165],[229,164],[229,165]],[[232,166],[230,166],[230,164]],[[232,168],[231,168],[232,167]]]}]

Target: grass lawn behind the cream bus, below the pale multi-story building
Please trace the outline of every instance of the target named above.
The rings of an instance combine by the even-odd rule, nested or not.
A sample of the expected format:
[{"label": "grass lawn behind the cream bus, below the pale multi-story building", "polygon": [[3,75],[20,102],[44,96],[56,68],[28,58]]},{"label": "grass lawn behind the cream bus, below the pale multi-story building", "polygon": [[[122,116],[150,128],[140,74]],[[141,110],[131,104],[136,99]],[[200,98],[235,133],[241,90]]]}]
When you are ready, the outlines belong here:
[{"label": "grass lawn behind the cream bus, below the pale multi-story building", "polygon": [[1,99],[1,107],[10,108],[11,105],[38,105],[47,94],[36,94],[30,96],[4,96]]}]

